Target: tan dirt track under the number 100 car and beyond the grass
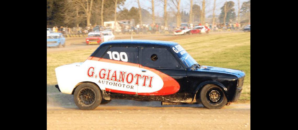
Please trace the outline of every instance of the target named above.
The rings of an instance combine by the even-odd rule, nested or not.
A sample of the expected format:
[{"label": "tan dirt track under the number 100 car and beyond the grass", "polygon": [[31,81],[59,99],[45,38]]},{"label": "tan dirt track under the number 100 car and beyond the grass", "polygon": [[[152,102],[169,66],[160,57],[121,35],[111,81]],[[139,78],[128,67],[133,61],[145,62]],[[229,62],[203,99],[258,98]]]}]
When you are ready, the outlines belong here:
[{"label": "tan dirt track under the number 100 car and beyond the grass", "polygon": [[[195,36],[152,34],[135,35],[134,39],[169,41]],[[117,35],[116,39],[130,39],[130,35]],[[65,48],[47,48],[47,53],[97,47],[85,45],[84,37],[66,38]],[[160,102],[112,100],[84,111],[76,107],[73,95],[47,86],[47,129],[250,129],[250,103],[211,110],[201,104],[162,106]]]}]

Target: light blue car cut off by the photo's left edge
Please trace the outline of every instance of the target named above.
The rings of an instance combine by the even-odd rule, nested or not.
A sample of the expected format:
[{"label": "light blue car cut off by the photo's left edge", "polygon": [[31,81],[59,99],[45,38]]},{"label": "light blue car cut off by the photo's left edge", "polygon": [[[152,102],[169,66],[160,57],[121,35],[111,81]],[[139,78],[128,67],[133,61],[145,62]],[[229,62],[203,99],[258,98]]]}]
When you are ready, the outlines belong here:
[{"label": "light blue car cut off by the photo's left edge", "polygon": [[62,33],[48,33],[46,34],[46,47],[57,46],[58,48],[65,47],[65,38]]}]

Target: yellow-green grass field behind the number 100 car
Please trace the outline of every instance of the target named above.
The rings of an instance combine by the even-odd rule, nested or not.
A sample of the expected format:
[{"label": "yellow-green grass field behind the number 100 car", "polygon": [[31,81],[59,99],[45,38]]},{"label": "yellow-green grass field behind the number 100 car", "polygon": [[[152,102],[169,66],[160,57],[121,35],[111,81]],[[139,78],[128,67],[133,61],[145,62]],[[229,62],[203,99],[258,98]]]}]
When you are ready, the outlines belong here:
[{"label": "yellow-green grass field behind the number 100 car", "polygon": [[[250,33],[216,33],[173,41],[180,44],[200,65],[243,70],[246,77],[239,102],[250,102]],[[93,51],[94,49],[83,49],[48,53],[47,86],[57,84],[56,67],[84,62]],[[47,87],[47,92],[49,91],[54,90]]]}]

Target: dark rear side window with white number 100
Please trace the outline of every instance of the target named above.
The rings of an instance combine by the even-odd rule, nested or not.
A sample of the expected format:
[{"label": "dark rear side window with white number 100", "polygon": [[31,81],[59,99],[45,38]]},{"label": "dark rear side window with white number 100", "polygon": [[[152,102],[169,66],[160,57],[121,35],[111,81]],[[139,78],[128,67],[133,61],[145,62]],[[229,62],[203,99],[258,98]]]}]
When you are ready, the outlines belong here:
[{"label": "dark rear side window with white number 100", "polygon": [[136,46],[113,46],[108,49],[103,58],[137,64],[139,48]]}]

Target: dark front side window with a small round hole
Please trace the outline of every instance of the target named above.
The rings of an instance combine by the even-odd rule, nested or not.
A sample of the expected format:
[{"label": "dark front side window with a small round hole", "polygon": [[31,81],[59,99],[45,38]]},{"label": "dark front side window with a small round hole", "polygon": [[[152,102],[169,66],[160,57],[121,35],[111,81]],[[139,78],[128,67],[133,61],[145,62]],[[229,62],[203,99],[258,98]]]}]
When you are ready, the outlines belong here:
[{"label": "dark front side window with a small round hole", "polygon": [[142,47],[141,64],[154,68],[181,68],[168,49],[159,47]]}]

